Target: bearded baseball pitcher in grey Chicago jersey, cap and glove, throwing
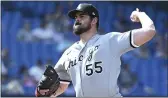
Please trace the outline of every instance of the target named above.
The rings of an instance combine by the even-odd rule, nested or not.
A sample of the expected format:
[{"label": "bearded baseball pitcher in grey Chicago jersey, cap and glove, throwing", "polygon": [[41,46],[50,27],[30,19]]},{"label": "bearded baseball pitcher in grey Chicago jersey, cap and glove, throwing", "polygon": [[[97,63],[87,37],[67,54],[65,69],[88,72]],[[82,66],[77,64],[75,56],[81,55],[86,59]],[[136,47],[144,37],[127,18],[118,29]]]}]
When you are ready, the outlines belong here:
[{"label": "bearded baseball pitcher in grey Chicago jersey, cap and glove, throwing", "polygon": [[75,19],[73,33],[80,41],[63,53],[54,68],[47,67],[36,96],[58,96],[72,81],[76,97],[121,97],[117,86],[120,56],[152,39],[153,21],[137,9],[130,18],[142,28],[99,35],[99,13],[93,5],[81,3],[68,16]]}]

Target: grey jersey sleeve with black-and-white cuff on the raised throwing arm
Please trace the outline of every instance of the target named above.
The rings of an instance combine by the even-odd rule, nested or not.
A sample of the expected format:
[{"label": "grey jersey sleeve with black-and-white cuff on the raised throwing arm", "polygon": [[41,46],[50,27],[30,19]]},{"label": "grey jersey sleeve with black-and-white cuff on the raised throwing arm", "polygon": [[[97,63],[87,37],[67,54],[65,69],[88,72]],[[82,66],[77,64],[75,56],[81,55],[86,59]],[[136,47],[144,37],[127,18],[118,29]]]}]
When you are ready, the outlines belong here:
[{"label": "grey jersey sleeve with black-and-white cuff on the raised throwing arm", "polygon": [[122,55],[130,50],[133,50],[139,46],[135,45],[133,42],[132,31],[127,31],[125,33],[111,32],[110,33],[110,43],[111,47],[117,48],[117,51]]}]

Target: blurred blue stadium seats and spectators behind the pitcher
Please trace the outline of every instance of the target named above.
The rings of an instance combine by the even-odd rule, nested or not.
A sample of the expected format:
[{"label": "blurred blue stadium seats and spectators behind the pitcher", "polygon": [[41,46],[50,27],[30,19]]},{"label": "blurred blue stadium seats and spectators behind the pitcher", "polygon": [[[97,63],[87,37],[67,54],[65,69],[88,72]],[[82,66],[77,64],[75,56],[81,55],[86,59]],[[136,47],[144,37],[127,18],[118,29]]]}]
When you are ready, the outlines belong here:
[{"label": "blurred blue stadium seats and spectators behind the pitcher", "polygon": [[[1,2],[1,96],[34,96],[45,65],[54,66],[79,39],[72,34],[67,12],[81,2]],[[101,34],[139,28],[129,18],[136,8],[152,18],[156,36],[121,57],[118,84],[123,96],[168,96],[168,2],[88,3],[99,10]],[[60,96],[75,96],[72,84]]]}]

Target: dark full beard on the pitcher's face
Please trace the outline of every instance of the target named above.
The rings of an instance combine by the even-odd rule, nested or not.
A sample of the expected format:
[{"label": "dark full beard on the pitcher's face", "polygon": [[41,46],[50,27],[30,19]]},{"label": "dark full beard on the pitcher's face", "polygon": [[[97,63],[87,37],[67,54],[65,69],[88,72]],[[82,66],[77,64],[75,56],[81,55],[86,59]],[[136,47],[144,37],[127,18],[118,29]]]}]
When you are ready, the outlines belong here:
[{"label": "dark full beard on the pitcher's face", "polygon": [[73,33],[75,35],[81,35],[84,32],[87,32],[88,30],[91,29],[91,23],[89,22],[87,25],[77,25],[77,26],[73,26]]}]

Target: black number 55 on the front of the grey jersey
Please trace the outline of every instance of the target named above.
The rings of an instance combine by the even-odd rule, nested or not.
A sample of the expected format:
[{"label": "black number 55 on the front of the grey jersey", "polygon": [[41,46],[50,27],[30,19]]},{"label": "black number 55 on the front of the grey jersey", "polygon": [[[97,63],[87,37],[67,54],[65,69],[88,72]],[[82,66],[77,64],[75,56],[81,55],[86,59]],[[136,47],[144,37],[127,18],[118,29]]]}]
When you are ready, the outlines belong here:
[{"label": "black number 55 on the front of the grey jersey", "polygon": [[100,66],[101,63],[102,62],[100,61],[100,62],[95,62],[94,64],[88,64],[88,65],[86,65],[86,75],[90,76],[90,75],[93,74],[93,69],[90,67],[92,65],[94,65],[96,73],[101,73],[102,70],[103,70],[102,66]]}]

